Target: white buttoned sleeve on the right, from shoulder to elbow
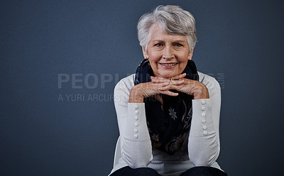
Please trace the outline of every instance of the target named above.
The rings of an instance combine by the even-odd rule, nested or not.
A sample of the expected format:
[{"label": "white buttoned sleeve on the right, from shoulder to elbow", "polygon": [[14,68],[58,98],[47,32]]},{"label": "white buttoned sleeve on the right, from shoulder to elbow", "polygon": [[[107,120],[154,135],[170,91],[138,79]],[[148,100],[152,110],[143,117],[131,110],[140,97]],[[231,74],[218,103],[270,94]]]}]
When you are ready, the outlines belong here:
[{"label": "white buttoned sleeve on the right, from shoulder to elbow", "polygon": [[192,100],[188,153],[190,161],[195,166],[211,166],[217,160],[220,151],[221,90],[214,78],[207,79],[204,84],[209,90],[209,99]]}]

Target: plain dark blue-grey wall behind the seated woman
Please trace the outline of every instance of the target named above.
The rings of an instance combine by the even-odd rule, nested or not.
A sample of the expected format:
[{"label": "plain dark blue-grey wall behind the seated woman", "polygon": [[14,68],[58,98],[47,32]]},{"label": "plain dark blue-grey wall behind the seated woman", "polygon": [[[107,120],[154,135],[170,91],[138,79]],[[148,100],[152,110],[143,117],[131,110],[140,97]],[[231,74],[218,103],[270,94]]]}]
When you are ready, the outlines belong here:
[{"label": "plain dark blue-grey wall behind the seated woman", "polygon": [[[283,1],[105,0],[0,2],[0,175],[109,174],[119,136],[111,95],[143,59],[138,18],[159,4],[192,12],[193,60],[222,86],[219,164],[229,175],[280,174]],[[59,89],[58,74],[82,74],[82,89]]]}]

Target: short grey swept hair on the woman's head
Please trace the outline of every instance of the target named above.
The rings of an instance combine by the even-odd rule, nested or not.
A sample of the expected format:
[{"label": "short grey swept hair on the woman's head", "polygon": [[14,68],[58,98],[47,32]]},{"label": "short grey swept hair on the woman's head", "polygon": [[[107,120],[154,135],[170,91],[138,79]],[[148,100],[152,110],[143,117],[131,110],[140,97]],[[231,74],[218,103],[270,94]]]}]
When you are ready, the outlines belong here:
[{"label": "short grey swept hair on the woman's head", "polygon": [[197,32],[195,18],[192,14],[179,6],[158,6],[153,12],[143,14],[138,21],[138,40],[145,50],[147,50],[147,45],[150,41],[151,27],[155,23],[158,23],[158,26],[165,33],[186,35],[190,52],[195,48]]}]

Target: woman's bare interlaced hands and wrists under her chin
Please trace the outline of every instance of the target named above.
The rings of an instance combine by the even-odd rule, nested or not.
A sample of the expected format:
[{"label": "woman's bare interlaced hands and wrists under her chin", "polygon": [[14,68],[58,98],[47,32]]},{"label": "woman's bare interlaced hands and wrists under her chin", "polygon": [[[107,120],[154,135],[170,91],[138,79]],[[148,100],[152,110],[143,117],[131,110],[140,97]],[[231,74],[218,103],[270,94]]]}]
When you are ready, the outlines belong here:
[{"label": "woman's bare interlaced hands and wrists under her chin", "polygon": [[186,79],[185,73],[175,77],[151,77],[151,82],[137,84],[131,89],[129,94],[129,103],[143,103],[143,99],[159,94],[167,94],[169,96],[178,96],[178,93],[171,92],[175,89],[178,92],[190,94],[194,99],[209,99],[207,87],[201,82]]}]

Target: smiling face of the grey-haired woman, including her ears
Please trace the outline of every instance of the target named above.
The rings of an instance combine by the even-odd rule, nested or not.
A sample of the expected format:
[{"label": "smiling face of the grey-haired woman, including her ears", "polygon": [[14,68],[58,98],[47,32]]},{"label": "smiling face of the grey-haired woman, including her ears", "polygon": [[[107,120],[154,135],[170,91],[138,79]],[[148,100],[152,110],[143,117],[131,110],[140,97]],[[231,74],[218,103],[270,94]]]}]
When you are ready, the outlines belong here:
[{"label": "smiling face of the grey-haired woman, including her ears", "polygon": [[151,39],[147,50],[143,48],[144,57],[148,57],[156,77],[174,77],[182,73],[187,60],[192,57],[185,35],[170,35],[158,25],[151,28]]}]

